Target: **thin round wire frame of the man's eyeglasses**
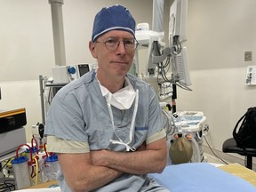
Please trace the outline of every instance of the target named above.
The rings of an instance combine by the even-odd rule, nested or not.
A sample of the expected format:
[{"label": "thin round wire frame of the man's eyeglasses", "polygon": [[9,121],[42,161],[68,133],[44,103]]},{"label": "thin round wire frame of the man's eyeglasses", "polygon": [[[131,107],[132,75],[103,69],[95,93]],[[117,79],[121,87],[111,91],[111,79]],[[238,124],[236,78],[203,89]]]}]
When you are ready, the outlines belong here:
[{"label": "thin round wire frame of the man's eyeglasses", "polygon": [[[128,48],[126,47],[127,43],[125,43],[125,41],[131,40],[131,39],[134,41],[134,42],[133,42],[133,46],[134,46],[134,47],[131,47],[131,49],[130,49],[129,46],[128,46]],[[107,43],[109,43],[108,40],[116,40],[114,46],[116,46],[116,45],[117,45],[117,46],[116,46],[115,49],[111,49],[111,48],[109,49],[109,46],[107,45]],[[126,40],[125,40],[125,38],[124,38],[123,41],[120,41],[120,40],[118,40],[117,37],[108,37],[106,40],[101,41],[101,42],[98,41],[98,40],[94,41],[94,43],[105,44],[105,47],[106,47],[109,51],[112,51],[112,52],[115,52],[115,51],[119,48],[119,45],[121,44],[121,42],[124,44],[125,50],[126,50],[126,51],[130,51],[130,52],[136,50],[137,47],[138,47],[138,44],[139,44],[139,42],[137,41],[136,38],[127,38]],[[110,44],[110,43],[109,43],[109,44]],[[110,45],[110,46],[111,46],[111,45]]]}]

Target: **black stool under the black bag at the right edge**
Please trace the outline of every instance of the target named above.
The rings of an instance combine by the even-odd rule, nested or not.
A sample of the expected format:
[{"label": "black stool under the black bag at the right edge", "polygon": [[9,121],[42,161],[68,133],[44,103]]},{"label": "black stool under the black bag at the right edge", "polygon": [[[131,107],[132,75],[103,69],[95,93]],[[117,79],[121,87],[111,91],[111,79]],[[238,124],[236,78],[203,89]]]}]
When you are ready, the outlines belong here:
[{"label": "black stool under the black bag at the right edge", "polygon": [[234,140],[234,138],[229,138],[228,140],[224,141],[222,151],[224,153],[236,153],[241,156],[245,156],[245,166],[248,169],[252,169],[252,156],[256,156],[256,148],[246,148],[246,153],[244,153],[243,148],[236,147],[236,140]]}]

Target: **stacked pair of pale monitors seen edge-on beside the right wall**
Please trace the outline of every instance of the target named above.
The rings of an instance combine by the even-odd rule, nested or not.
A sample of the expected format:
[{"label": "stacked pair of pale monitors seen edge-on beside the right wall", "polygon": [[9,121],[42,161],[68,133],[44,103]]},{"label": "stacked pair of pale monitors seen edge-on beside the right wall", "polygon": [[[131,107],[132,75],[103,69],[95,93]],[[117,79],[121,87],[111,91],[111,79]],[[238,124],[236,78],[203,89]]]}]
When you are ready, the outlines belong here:
[{"label": "stacked pair of pale monitors seen edge-on beside the right wall", "polygon": [[182,88],[191,85],[188,50],[183,45],[187,41],[188,0],[174,0],[170,7],[169,44],[172,55],[172,81]]}]

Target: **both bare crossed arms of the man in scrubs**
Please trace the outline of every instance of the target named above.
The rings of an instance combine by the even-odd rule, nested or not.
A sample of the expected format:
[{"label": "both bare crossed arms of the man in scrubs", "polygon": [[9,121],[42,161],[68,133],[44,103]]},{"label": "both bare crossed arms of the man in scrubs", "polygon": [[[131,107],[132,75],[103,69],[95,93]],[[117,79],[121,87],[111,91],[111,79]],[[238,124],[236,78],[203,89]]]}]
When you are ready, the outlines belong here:
[{"label": "both bare crossed arms of the man in scrubs", "polygon": [[58,157],[68,186],[72,191],[85,192],[108,184],[124,172],[162,172],[166,153],[166,140],[163,138],[148,145],[142,144],[134,152],[99,150],[86,154],[58,154]]}]

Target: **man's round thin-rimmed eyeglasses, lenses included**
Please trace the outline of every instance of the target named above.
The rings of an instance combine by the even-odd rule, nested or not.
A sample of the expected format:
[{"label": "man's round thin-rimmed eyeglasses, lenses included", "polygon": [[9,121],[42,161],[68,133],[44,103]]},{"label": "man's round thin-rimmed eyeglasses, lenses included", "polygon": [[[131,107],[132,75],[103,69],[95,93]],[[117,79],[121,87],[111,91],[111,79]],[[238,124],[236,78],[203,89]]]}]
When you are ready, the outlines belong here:
[{"label": "man's round thin-rimmed eyeglasses, lenses included", "polygon": [[123,41],[119,41],[118,38],[111,37],[106,39],[103,42],[96,41],[95,43],[105,44],[106,48],[109,51],[116,51],[119,47],[119,44],[121,44],[121,42],[124,44],[124,48],[126,49],[126,51],[133,51],[138,46],[138,42],[134,38],[124,39]]}]

